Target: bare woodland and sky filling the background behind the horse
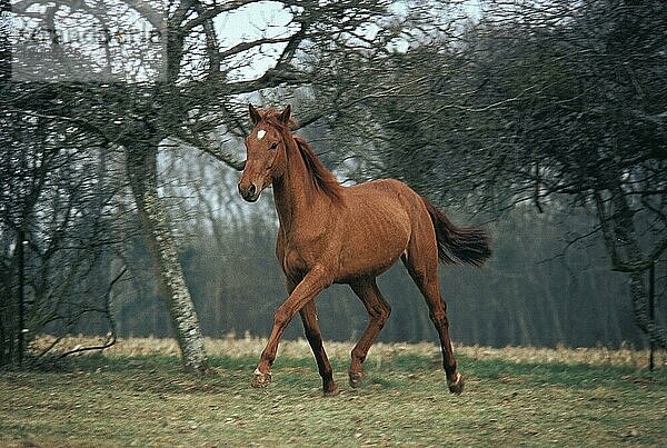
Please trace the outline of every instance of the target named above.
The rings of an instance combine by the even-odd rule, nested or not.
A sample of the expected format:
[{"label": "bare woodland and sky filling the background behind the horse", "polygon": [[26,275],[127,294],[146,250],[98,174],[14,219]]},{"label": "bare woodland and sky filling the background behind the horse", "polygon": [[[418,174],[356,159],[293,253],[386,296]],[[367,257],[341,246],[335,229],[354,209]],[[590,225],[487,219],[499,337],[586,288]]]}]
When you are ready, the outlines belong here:
[{"label": "bare woodland and sky filling the background behind the horse", "polygon": [[[291,103],[342,182],[398,178],[490,231],[487,266],[441,269],[456,341],[665,345],[663,0],[0,4],[1,364],[43,332],[186,355],[268,333],[286,292],[270,193],[236,190],[248,102]],[[402,266],[379,283],[380,339],[434,340]],[[325,338],[365,326],[346,287],[318,307]]]}]

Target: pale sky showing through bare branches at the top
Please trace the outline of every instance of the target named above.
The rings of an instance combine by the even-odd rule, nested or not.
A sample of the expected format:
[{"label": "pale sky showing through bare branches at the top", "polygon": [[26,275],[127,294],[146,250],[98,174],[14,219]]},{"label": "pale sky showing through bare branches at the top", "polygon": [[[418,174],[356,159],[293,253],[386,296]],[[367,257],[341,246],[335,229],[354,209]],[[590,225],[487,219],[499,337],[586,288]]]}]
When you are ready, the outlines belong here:
[{"label": "pale sky showing through bare branches at the top", "polygon": [[[480,0],[462,0],[462,8],[467,13],[475,10],[479,11]],[[156,72],[156,67],[160,67],[160,61],[150,61],[150,54],[160,52],[160,44],[163,42],[156,42],[153,37],[150,34],[151,26],[148,21],[141,19],[141,16],[135,12],[127,4],[131,2],[123,2],[123,0],[79,0],[80,3],[91,6],[90,8],[98,9],[97,16],[101,17],[102,21],[107,23],[116,23],[116,31],[111,32],[111,46],[115,51],[112,58],[112,69],[108,69],[104,66],[109,66],[109,54],[106,53],[101,46],[97,42],[106,38],[104,33],[100,31],[100,23],[82,13],[82,8],[77,8],[77,1],[67,1],[61,3],[60,17],[56,20],[56,28],[58,29],[58,39],[62,42],[70,44],[70,48],[79,50],[83,58],[79,58],[74,61],[67,62],[67,70],[63,73],[59,73],[64,80],[68,76],[69,80],[90,80],[90,77],[103,77],[104,69],[108,76],[118,76],[125,81],[131,80],[146,80]],[[42,0],[12,0],[12,8],[14,11],[21,9],[28,9],[32,12],[44,13],[47,6],[52,4]],[[29,7],[27,7],[29,6]],[[67,7],[64,7],[67,6]],[[106,8],[106,9],[103,9]],[[122,11],[125,8],[125,19],[116,19],[118,11]],[[397,17],[405,17],[409,11],[409,7],[406,1],[397,0],[390,8],[390,12]],[[279,1],[259,1],[247,4],[245,7],[235,9],[230,12],[219,14],[215,19],[215,27],[219,37],[220,50],[232,48],[233,46],[245,42],[253,41],[259,38],[276,38],[289,36],[293,32],[293,27],[290,27],[292,19],[291,10],[283,7],[282,2]],[[159,18],[158,18],[159,21]],[[131,23],[131,24],[128,24]],[[32,28],[31,28],[32,27]],[[118,31],[118,28],[130,28],[130,32]],[[132,29],[133,27],[133,29]],[[17,44],[14,46],[14,56],[21,59],[22,62],[30,62],[26,76],[28,77],[47,77],[49,72],[52,72],[52,67],[58,66],[50,59],[43,58],[43,52],[39,53],[33,51],[37,47],[36,41],[40,41],[41,47],[48,43],[51,37],[44,28],[48,24],[42,22],[42,30],[34,33],[34,21],[30,24],[30,20],[24,21],[20,16],[14,14],[13,19],[14,38]],[[370,24],[366,32],[374,33],[379,28],[375,24]],[[148,31],[147,31],[148,30]],[[132,36],[138,38],[132,39]],[[141,40],[142,39],[142,40]],[[92,43],[92,46],[91,46]],[[405,43],[405,42],[404,42]],[[400,42],[394,42],[395,49],[407,50],[407,43],[401,46]],[[156,51],[150,51],[150,48]],[[97,50],[93,50],[97,47]],[[266,72],[267,69],[275,64],[276,58],[281,53],[285,48],[285,43],[278,43],[272,46],[262,46],[261,52],[258,49],[243,52],[238,59],[232,60],[232,66],[238,64],[239,68],[232,70],[228,76],[230,80],[245,80],[253,79]],[[163,53],[163,48],[162,48]],[[151,66],[152,63],[152,66]],[[196,57],[191,60],[192,64],[198,64]],[[24,64],[24,63],[23,63]],[[21,64],[19,64],[21,66]],[[149,67],[149,69],[147,69]],[[101,69],[100,69],[101,68]],[[69,72],[68,72],[69,70]],[[115,72],[115,73],[112,73]],[[20,72],[16,73],[20,76]],[[159,71],[158,71],[158,74]],[[155,77],[155,74],[153,74]],[[80,79],[77,79],[80,78]],[[123,79],[125,78],[125,79]]]}]

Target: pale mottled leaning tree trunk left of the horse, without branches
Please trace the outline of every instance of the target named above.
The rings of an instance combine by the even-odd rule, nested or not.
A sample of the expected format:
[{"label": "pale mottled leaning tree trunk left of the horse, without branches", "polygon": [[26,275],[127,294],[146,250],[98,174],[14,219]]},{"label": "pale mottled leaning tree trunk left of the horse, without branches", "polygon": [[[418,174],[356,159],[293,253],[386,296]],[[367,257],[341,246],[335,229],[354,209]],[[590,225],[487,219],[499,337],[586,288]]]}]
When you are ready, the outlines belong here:
[{"label": "pale mottled leaning tree trunk left of the horse, without branches", "polygon": [[208,366],[197,312],[178,261],[165,209],[158,198],[157,153],[157,145],[126,148],[128,176],[156,277],[169,306],[183,365],[188,370],[203,372]]}]

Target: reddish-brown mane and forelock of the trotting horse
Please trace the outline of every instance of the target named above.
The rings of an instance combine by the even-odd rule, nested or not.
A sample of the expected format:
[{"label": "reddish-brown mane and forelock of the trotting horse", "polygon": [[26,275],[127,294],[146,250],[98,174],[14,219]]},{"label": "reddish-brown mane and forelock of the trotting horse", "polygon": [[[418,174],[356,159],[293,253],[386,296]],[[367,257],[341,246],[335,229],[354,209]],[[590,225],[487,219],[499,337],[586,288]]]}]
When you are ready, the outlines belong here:
[{"label": "reddish-brown mane and forelock of the trotting horse", "polygon": [[297,125],[296,120],[293,118],[290,118],[289,123],[287,126],[283,125],[279,119],[280,111],[276,109],[260,110],[259,113],[261,116],[262,121],[267,121],[277,129],[280,129],[281,132],[285,132],[286,136],[283,137],[287,137],[289,135],[295,139],[297,148],[299,148],[299,153],[303,159],[303,163],[306,163],[306,169],[312,176],[312,183],[315,185],[315,187],[318,188],[325,195],[327,195],[329,198],[331,198],[334,201],[340,201],[342,187],[340,186],[340,183],[338,183],[338,179],[336,179],[336,176],[334,176],[334,173],[329,171],[327,167],[325,167],[325,165],[317,157],[315,150],[312,149],[310,143],[306,141],[306,139],[303,139],[300,136],[293,136],[290,132],[290,127]]}]

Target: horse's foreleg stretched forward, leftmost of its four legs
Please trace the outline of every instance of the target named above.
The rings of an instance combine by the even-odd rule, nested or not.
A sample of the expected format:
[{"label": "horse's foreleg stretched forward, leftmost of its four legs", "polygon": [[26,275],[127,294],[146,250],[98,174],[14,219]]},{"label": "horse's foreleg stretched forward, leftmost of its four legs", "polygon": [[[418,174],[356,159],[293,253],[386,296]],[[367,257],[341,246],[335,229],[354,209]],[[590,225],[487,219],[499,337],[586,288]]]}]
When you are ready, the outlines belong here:
[{"label": "horse's foreleg stretched forward, leftmost of its four legs", "polygon": [[303,280],[297,285],[287,300],[278,307],[273,316],[273,327],[271,328],[269,340],[261,352],[259,365],[255,369],[252,387],[267,387],[271,382],[271,366],[273,365],[273,360],[276,360],[278,344],[287,325],[297,311],[303,308],[322,289],[331,285],[331,281],[326,269],[316,267],[303,277]]}]

